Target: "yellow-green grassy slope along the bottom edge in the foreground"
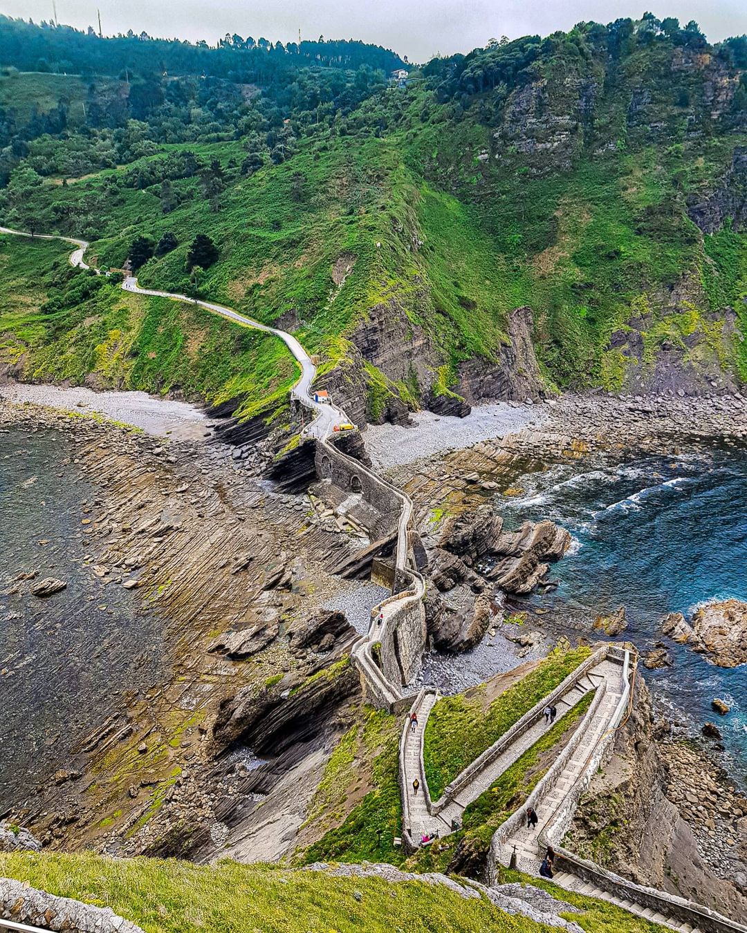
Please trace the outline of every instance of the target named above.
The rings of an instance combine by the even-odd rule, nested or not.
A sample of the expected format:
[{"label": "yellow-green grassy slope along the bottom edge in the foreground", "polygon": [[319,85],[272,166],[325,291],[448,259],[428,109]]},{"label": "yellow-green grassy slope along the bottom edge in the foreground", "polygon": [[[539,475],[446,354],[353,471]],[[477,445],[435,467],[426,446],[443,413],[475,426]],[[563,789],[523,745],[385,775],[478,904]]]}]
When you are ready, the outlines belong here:
[{"label": "yellow-green grassy slope along the bottom edge in the foreground", "polygon": [[[444,885],[378,878],[332,878],[321,872],[228,860],[203,867],[155,858],[0,855],[0,874],[51,894],[111,907],[146,933],[545,933],[483,898],[465,900]],[[512,878],[512,880],[514,880]],[[534,879],[532,879],[532,882]],[[603,901],[559,898],[584,911],[569,915],[588,933],[661,929]]]}]

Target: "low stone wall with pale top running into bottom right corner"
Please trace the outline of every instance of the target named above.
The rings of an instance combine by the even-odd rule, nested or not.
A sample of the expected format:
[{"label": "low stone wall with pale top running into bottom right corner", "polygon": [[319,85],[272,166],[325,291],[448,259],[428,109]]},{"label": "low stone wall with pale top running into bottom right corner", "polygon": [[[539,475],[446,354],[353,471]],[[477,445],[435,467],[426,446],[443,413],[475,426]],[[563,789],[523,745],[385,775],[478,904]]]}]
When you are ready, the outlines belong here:
[{"label": "low stone wall with pale top running into bottom right corner", "polygon": [[624,898],[642,908],[650,908],[676,922],[697,926],[704,933],[747,933],[747,926],[737,923],[736,920],[729,920],[695,901],[678,898],[676,895],[653,887],[635,884],[612,871],[600,868],[594,862],[574,856],[560,846],[556,846],[555,854],[556,870],[568,871],[617,898]]}]

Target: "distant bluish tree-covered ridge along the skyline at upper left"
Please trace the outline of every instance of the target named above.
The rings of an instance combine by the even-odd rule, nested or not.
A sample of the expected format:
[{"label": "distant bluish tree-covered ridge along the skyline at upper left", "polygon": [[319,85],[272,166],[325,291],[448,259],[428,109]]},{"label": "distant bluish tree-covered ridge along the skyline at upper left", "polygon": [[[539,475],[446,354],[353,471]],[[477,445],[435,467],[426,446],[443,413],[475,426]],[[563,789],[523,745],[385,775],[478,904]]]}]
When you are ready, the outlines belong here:
[{"label": "distant bluish tree-covered ridge along the skyline at upper left", "polygon": [[85,76],[131,74],[204,75],[234,81],[270,83],[278,74],[308,65],[389,72],[404,67],[395,52],[354,39],[303,40],[284,44],[263,36],[225,35],[217,48],[206,42],[152,38],[147,33],[100,37],[72,26],[36,25],[0,16],[0,62],[21,71]]}]

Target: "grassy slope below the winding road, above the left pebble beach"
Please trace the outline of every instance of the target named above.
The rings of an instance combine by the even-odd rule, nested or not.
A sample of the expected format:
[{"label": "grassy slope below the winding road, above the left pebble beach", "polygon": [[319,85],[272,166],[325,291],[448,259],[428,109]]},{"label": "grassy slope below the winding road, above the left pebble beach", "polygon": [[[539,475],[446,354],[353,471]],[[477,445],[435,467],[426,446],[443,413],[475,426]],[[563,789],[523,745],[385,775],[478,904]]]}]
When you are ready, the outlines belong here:
[{"label": "grassy slope below the winding road, above the left pebble beach", "polygon": [[212,403],[246,395],[250,415],[285,403],[297,368],[282,341],[168,299],[123,292],[71,269],[69,247],[0,238],[0,363],[25,354],[26,378]]}]

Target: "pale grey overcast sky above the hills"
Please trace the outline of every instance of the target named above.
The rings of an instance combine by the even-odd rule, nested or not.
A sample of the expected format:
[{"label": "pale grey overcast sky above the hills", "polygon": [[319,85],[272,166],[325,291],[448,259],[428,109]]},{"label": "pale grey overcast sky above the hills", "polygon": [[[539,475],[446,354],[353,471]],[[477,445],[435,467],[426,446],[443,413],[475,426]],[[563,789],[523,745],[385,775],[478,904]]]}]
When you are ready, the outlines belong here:
[{"label": "pale grey overcast sky above the hills", "polygon": [[[746,0],[56,0],[58,21],[95,25],[101,10],[106,35],[135,33],[206,39],[226,33],[271,41],[357,38],[425,62],[436,52],[467,52],[491,37],[569,29],[584,20],[637,19],[647,8],[656,16],[700,23],[712,42],[747,33]],[[52,0],[0,0],[7,16],[52,18]]]}]

